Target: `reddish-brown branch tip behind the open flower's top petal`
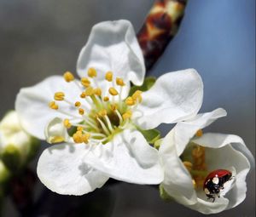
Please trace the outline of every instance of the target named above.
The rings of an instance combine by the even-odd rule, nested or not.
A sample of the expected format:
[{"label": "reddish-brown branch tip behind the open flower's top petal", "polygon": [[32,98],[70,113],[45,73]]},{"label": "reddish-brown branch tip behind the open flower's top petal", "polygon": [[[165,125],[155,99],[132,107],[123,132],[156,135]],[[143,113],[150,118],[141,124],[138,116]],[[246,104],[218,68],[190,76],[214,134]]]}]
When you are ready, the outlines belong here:
[{"label": "reddish-brown branch tip behind the open flower's top petal", "polygon": [[156,0],[149,11],[142,29],[137,33],[147,71],[176,35],[185,5],[185,0]]}]

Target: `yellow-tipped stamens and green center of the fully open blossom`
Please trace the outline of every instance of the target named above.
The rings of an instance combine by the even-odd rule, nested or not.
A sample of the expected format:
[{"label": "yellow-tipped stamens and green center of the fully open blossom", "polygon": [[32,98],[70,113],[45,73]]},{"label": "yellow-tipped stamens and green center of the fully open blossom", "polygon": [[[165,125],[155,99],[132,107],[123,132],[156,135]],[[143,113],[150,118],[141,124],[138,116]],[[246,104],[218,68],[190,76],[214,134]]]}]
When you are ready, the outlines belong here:
[{"label": "yellow-tipped stamens and green center of the fully open blossom", "polygon": [[[64,92],[56,92],[55,100],[49,102],[49,107],[71,117],[64,119],[63,124],[75,143],[107,143],[114,134],[118,134],[131,123],[132,111],[142,101],[142,92],[137,90],[122,100],[125,82],[121,77],[116,77],[114,82],[113,72],[108,71],[104,81],[104,86],[108,89],[101,89],[97,84],[96,70],[90,68],[87,75],[88,77],[82,77],[79,82],[71,72],[64,73],[63,77],[67,83],[74,83],[79,87],[80,100],[67,99]],[[61,109],[59,104],[62,102],[76,109],[79,117]],[[75,122],[77,119],[80,120],[79,123]]]}]

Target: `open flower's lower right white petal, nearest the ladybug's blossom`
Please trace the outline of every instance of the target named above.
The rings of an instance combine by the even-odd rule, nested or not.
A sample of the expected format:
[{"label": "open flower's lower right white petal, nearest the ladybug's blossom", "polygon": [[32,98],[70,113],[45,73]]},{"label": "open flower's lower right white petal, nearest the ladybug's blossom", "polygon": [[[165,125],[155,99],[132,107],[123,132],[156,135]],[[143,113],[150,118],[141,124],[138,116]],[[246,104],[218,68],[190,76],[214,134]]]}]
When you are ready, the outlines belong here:
[{"label": "open flower's lower right white petal, nearest the ladybug's blossom", "polygon": [[116,180],[137,184],[159,184],[163,180],[158,151],[138,131],[126,129],[106,145],[97,145],[84,160]]}]

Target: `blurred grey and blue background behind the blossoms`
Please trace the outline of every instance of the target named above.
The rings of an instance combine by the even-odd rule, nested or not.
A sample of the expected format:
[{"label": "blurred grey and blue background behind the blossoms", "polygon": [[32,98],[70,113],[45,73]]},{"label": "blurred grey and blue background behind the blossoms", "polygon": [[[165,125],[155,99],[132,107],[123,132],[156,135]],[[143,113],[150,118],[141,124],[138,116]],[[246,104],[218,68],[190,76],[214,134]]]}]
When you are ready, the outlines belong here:
[{"label": "blurred grey and blue background behind the blossoms", "polygon": [[[131,20],[138,31],[153,3],[154,0],[0,0],[0,117],[14,108],[15,95],[21,87],[50,75],[75,71],[79,51],[97,22]],[[254,155],[254,0],[189,1],[177,36],[148,75],[159,77],[190,67],[200,72],[205,85],[201,111],[217,107],[228,111],[228,117],[207,129],[239,134]],[[166,125],[160,129],[164,134],[169,130]],[[32,168],[36,163],[37,159]],[[253,168],[247,176],[246,200],[215,216],[254,216],[254,176]],[[47,192],[46,196],[41,196],[42,191]],[[152,186],[119,183],[84,197],[67,198],[38,183],[34,197],[42,200],[35,216],[52,216],[50,212],[66,216],[65,204],[90,201],[101,201],[98,204],[111,209],[108,215],[112,217],[201,216],[177,203],[161,201]],[[10,199],[6,207],[3,216],[18,216]],[[94,216],[92,213],[89,216]],[[85,212],[81,216],[88,215]]]}]

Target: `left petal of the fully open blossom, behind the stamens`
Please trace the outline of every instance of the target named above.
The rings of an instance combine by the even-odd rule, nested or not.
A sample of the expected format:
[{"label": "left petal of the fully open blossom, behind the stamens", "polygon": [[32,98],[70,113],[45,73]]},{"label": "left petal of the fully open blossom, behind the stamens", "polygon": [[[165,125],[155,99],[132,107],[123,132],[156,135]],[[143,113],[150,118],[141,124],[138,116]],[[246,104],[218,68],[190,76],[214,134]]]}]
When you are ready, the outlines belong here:
[{"label": "left petal of the fully open blossom, behind the stamens", "polygon": [[63,77],[48,77],[43,82],[30,88],[20,89],[15,101],[15,109],[20,117],[20,123],[29,134],[44,140],[44,128],[54,117],[79,118],[78,111],[64,101],[57,101],[60,111],[49,108],[49,101],[54,100],[55,92],[63,91],[65,98],[75,102],[79,100],[80,90],[74,83],[66,83]]}]

